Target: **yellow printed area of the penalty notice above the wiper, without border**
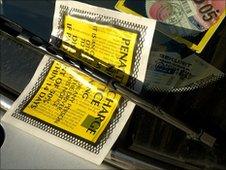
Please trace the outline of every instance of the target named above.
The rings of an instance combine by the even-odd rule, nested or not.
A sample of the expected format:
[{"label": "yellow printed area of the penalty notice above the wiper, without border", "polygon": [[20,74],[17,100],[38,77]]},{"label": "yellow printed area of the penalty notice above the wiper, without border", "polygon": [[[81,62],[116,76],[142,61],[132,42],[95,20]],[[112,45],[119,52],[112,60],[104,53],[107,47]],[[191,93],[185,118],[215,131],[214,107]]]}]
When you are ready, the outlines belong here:
[{"label": "yellow printed area of the penalty notice above the wiper, without border", "polygon": [[[61,48],[70,53],[74,52],[73,47],[82,49],[129,75],[136,41],[137,33],[65,16]],[[106,70],[102,71],[107,73]],[[125,83],[128,77],[120,79],[120,76],[114,75]]]}]

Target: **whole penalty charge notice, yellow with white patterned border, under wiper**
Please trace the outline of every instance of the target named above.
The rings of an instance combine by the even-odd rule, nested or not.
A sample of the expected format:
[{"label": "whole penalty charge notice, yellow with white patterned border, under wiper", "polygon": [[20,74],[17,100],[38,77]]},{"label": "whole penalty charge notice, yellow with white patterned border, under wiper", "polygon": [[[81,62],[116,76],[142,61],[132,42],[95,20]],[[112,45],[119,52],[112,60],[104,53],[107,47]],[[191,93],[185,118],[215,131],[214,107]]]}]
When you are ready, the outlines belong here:
[{"label": "whole penalty charge notice, yellow with white patterned border, under wiper", "polygon": [[[107,66],[93,67],[140,92],[137,82],[145,78],[154,30],[154,20],[56,1],[50,42],[71,57],[76,48],[84,50]],[[80,57],[88,64],[93,60]],[[134,107],[107,85],[46,55],[3,121],[101,164]]]}]

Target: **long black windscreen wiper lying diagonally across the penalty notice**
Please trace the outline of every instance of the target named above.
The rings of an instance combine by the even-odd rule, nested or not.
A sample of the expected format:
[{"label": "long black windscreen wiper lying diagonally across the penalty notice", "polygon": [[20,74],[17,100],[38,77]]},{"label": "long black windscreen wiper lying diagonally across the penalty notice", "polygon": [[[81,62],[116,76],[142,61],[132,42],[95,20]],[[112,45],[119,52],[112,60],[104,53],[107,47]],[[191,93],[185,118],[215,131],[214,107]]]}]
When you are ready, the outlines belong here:
[{"label": "long black windscreen wiper lying diagonally across the penalty notice", "polygon": [[[189,128],[185,123],[167,114],[159,107],[146,101],[144,98],[139,96],[135,91],[121,84],[116,79],[76,59],[76,56],[89,56],[89,54],[87,54],[86,52],[74,47],[76,51],[74,54],[75,56],[73,55],[70,57],[69,54],[65,53],[61,49],[44,41],[39,36],[33,34],[32,32],[24,29],[20,25],[10,21],[9,19],[3,16],[0,16],[0,31],[3,36],[7,36],[8,38],[13,39],[20,44],[26,45],[28,48],[37,50],[38,52],[44,55],[48,54],[53,58],[64,61],[70,64],[71,66],[77,68],[81,72],[93,77],[97,81],[107,84],[110,89],[116,91],[124,98],[134,102],[136,105],[140,106],[149,113],[157,116],[158,118],[166,121],[167,123],[185,132],[189,139],[201,141],[210,147],[214,145],[216,139],[211,135],[205,133],[204,131],[201,131],[200,133],[195,132],[194,130]],[[90,57],[92,58],[92,56]]]}]

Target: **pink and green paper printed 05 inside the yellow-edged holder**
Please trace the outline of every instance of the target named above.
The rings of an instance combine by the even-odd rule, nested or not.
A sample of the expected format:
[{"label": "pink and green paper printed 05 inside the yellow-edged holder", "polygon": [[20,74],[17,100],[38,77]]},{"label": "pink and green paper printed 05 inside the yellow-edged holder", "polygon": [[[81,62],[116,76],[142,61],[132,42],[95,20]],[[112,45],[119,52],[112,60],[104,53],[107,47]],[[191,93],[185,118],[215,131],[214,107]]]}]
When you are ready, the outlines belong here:
[{"label": "pink and green paper printed 05 inside the yellow-edged holder", "polygon": [[149,18],[196,31],[207,30],[224,9],[224,0],[146,0]]}]

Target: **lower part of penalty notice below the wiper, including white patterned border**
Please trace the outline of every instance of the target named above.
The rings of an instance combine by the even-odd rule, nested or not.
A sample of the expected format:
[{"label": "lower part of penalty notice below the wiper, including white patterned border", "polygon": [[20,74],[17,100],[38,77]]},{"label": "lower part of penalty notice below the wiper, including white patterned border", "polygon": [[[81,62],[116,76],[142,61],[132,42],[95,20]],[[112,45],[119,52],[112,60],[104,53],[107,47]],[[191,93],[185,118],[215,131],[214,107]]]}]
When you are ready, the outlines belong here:
[{"label": "lower part of penalty notice below the wiper, including white patterned border", "polygon": [[133,107],[105,84],[45,56],[2,120],[100,164]]}]

